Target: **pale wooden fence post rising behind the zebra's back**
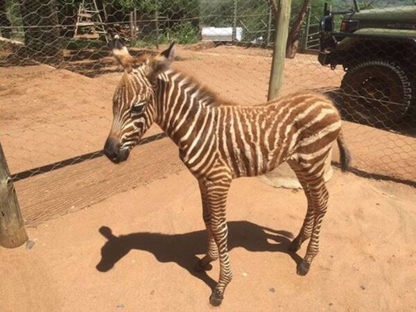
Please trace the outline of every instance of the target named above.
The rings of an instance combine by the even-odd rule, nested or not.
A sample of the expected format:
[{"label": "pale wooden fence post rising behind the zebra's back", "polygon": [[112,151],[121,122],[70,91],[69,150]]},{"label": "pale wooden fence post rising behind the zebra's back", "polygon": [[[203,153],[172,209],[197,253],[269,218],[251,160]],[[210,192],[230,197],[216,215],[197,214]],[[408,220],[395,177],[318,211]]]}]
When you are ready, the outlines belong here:
[{"label": "pale wooden fence post rising behind the zebra's back", "polygon": [[275,14],[275,46],[273,47],[272,69],[268,90],[268,100],[279,97],[288,41],[289,19],[291,19],[291,0],[269,0]]}]

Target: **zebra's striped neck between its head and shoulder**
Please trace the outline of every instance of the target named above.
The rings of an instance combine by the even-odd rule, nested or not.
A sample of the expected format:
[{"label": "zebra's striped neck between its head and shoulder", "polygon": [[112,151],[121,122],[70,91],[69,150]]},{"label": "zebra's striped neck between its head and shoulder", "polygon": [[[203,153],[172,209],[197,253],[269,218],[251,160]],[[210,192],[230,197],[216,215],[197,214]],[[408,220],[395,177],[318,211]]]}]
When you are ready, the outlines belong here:
[{"label": "zebra's striped neck between its head and shoulder", "polygon": [[155,101],[157,124],[180,147],[219,105],[209,90],[173,70],[159,76]]}]

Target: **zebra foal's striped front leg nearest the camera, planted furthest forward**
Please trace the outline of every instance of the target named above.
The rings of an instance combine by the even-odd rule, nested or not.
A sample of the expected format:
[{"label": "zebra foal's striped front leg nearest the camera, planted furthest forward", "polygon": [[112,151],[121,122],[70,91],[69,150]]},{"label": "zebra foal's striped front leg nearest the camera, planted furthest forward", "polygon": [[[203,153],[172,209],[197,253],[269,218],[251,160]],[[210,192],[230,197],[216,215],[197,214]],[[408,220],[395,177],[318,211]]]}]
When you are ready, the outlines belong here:
[{"label": "zebra foal's striped front leg nearest the camera, planted furthest forward", "polygon": [[232,279],[231,266],[229,264],[229,254],[227,247],[228,227],[225,218],[225,208],[227,204],[227,194],[231,185],[229,175],[221,175],[215,180],[205,180],[207,188],[207,200],[209,202],[209,227],[214,241],[218,247],[220,258],[220,278],[214,291],[209,297],[209,302],[213,306],[219,306],[223,301],[224,291],[229,281]]}]

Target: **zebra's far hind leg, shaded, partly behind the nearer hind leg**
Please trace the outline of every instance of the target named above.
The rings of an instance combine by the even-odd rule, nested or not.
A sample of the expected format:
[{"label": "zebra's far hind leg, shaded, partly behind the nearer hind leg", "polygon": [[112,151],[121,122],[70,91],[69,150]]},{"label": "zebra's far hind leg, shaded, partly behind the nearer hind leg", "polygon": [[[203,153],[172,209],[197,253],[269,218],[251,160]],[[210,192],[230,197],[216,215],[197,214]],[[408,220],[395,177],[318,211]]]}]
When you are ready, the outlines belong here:
[{"label": "zebra's far hind leg, shaded, partly behind the nearer hind leg", "polygon": [[304,223],[300,229],[299,234],[293,239],[291,244],[288,247],[288,250],[291,252],[297,252],[300,250],[300,247],[306,239],[311,237],[312,228],[313,228],[313,200],[311,197],[311,191],[309,189],[309,185],[306,183],[304,175],[302,173],[302,168],[296,162],[288,162],[289,166],[291,166],[292,170],[295,172],[297,179],[299,180],[304,193],[306,195],[306,200],[308,201],[308,209],[306,211],[306,216],[304,218]]}]

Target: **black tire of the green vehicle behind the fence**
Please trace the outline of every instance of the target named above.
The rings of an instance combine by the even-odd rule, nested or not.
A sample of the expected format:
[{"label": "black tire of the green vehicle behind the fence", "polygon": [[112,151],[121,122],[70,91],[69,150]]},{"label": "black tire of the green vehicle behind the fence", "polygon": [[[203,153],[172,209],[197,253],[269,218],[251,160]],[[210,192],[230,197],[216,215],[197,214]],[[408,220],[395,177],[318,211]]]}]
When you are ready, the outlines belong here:
[{"label": "black tire of the green vehicle behind the fence", "polygon": [[394,62],[363,62],[350,68],[341,83],[341,113],[347,120],[387,126],[402,119],[410,107],[410,79]]}]

